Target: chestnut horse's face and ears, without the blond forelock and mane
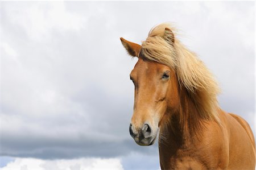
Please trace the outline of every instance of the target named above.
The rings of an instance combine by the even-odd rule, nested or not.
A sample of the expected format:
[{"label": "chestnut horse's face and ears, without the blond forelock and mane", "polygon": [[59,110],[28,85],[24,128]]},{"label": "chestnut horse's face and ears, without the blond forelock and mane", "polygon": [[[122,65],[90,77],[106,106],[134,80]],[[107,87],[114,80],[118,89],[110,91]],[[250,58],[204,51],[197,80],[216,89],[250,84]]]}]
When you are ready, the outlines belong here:
[{"label": "chestnut horse's face and ears, without the blond forelock and mane", "polygon": [[[166,43],[174,43],[174,35],[168,28],[162,38],[166,39]],[[175,110],[178,106],[175,70],[144,57],[146,50],[143,45],[123,38],[121,42],[129,55],[138,57],[138,62],[130,73],[130,79],[135,86],[130,135],[137,144],[148,146],[154,143],[167,110]]]}]

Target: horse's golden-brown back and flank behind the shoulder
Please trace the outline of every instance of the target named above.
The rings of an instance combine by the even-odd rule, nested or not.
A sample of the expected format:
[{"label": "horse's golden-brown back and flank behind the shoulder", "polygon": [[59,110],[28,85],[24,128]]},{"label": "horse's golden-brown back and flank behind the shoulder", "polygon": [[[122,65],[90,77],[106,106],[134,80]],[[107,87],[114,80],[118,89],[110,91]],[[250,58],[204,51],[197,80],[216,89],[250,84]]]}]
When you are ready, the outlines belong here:
[{"label": "horse's golden-brown back and flank behind the shoulder", "polygon": [[229,136],[228,169],[255,169],[255,140],[249,124],[236,114],[221,112]]}]

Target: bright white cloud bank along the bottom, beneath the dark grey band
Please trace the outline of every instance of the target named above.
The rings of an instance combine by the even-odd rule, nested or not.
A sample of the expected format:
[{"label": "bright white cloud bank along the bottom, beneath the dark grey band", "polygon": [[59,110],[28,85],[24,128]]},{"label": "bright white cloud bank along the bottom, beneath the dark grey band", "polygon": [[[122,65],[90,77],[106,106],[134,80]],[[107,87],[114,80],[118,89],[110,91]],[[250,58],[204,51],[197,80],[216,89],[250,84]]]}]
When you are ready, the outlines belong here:
[{"label": "bright white cloud bank along the bottom, beneath the dark grey band", "polygon": [[59,159],[42,160],[34,158],[19,158],[8,163],[2,170],[80,170],[80,169],[123,169],[121,160],[117,158],[80,158],[80,159]]}]

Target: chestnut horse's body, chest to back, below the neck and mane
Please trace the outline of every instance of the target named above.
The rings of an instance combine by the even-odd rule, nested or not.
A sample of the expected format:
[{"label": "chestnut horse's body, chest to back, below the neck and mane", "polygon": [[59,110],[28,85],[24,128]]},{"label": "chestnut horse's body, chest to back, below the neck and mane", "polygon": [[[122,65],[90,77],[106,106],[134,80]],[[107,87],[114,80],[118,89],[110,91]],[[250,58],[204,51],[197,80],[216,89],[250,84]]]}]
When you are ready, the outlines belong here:
[{"label": "chestnut horse's body, chest to back, below the neck and mane", "polygon": [[[200,136],[177,127],[161,128],[159,136],[162,169],[254,169],[254,141],[232,115],[219,110],[222,126],[203,122]],[[175,123],[175,119],[174,122]],[[247,126],[249,129],[249,126]]]}]

